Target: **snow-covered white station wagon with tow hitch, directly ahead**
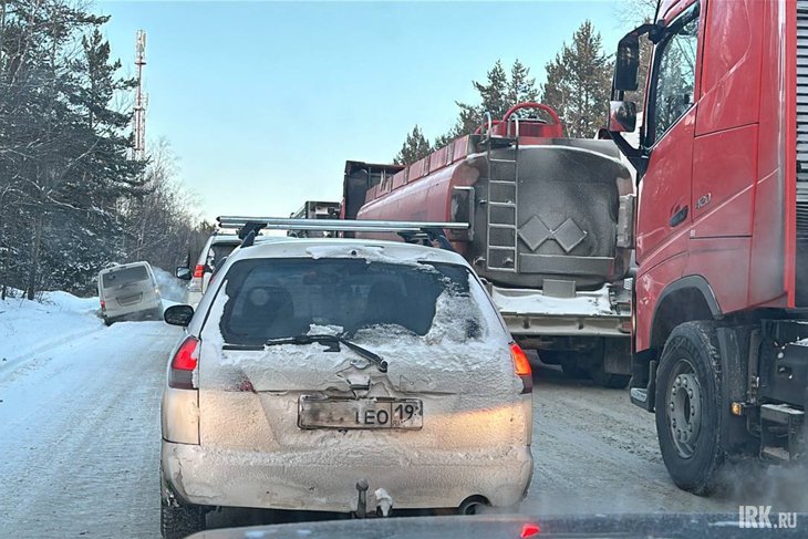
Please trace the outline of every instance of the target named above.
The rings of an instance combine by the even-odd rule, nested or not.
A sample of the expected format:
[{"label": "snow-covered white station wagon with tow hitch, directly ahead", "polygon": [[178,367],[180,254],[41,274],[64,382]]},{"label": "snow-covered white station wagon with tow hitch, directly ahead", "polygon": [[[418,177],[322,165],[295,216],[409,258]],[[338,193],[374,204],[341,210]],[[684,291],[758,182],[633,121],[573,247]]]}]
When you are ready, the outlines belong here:
[{"label": "snow-covered white station wagon with tow hitch, directly ahead", "polygon": [[[514,506],[530,365],[457,253],[298,239],[234,251],[163,396],[162,530],[211,507],[387,514]],[[191,319],[193,317],[193,319]]]}]

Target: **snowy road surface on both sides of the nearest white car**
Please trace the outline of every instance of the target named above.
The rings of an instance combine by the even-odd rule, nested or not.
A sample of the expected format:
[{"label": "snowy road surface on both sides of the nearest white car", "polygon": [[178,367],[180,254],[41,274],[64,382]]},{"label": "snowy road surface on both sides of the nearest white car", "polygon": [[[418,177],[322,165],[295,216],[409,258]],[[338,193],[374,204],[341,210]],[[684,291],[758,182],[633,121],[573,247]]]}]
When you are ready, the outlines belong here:
[{"label": "snowy road surface on both sides of the nearest white car", "polygon": [[[158,537],[159,394],[179,333],[159,322],[97,325],[0,364],[0,537]],[[653,416],[626,392],[548,367],[535,380],[525,511],[736,512],[764,501],[808,510],[802,479],[781,470],[746,473],[711,499],[677,490]]]}]

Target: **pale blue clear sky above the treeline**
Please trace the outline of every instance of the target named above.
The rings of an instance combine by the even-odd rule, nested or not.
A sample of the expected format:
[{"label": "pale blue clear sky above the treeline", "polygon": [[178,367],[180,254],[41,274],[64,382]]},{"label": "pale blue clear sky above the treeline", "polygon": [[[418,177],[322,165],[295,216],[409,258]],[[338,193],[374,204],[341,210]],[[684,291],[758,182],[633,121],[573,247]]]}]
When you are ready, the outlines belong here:
[{"label": "pale blue clear sky above the treeline", "polygon": [[147,139],[165,137],[199,211],[288,216],[339,200],[346,159],[391,162],[416,123],[432,139],[497,59],[543,66],[590,19],[608,53],[618,1],[111,1],[105,32],[134,73],[147,33]]}]

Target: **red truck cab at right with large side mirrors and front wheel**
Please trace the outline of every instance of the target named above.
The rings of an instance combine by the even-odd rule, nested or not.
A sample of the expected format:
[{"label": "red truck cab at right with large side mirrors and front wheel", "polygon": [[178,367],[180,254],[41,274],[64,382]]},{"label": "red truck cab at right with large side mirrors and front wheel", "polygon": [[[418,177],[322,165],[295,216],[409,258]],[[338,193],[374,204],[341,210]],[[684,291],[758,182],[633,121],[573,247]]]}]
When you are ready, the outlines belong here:
[{"label": "red truck cab at right with large side mirrors and front wheel", "polygon": [[[640,146],[640,40],[653,56]],[[808,2],[663,0],[618,45],[609,131],[638,170],[631,400],[674,483],[805,455]]]}]

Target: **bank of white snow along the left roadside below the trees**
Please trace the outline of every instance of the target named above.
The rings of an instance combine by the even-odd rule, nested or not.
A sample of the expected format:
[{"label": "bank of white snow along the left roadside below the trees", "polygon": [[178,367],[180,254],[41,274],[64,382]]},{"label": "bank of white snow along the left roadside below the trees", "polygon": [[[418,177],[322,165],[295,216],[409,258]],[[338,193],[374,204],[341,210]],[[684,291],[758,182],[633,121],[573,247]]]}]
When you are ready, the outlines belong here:
[{"label": "bank of white snow along the left roadside below the trees", "polygon": [[[99,298],[44,292],[41,301],[0,300],[0,369],[6,362],[37,353],[104,328]],[[4,361],[3,361],[4,360]]]}]

